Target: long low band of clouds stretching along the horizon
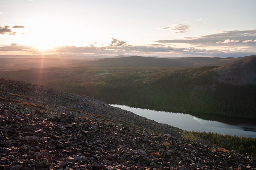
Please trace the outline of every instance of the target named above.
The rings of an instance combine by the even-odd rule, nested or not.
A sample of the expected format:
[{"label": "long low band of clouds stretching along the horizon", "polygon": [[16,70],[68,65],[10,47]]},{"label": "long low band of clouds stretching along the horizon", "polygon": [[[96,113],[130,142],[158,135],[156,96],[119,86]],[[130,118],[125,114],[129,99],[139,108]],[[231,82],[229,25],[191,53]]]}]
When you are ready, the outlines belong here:
[{"label": "long low band of clouds stretching along the horizon", "polygon": [[[249,35],[248,32],[246,35]],[[190,41],[196,41],[199,38],[187,38]],[[226,42],[230,43],[223,43]],[[111,44],[102,45],[102,46],[94,46],[95,43],[91,42],[86,46],[58,46],[53,49],[44,51],[44,54],[61,54],[61,55],[147,55],[147,56],[211,56],[211,57],[241,57],[253,55],[256,53],[256,49],[254,48],[256,40],[248,40],[247,44],[253,44],[254,46],[248,48],[246,43],[241,43],[235,41],[237,39],[225,39],[222,40],[222,43],[213,43],[220,47],[213,46],[213,48],[209,48],[206,46],[189,46],[189,47],[179,47],[176,45],[171,45],[168,43],[152,43],[148,45],[128,45],[125,41],[112,39]],[[251,42],[252,41],[252,42]],[[255,41],[255,42],[253,42]],[[225,44],[244,44],[244,46],[227,46]],[[198,45],[198,44],[196,44]],[[210,46],[212,47],[212,46]],[[37,49],[33,46],[22,46],[17,43],[13,43],[10,46],[0,46],[0,52],[4,55],[6,53],[18,54],[42,54],[43,52],[40,49]]]}]

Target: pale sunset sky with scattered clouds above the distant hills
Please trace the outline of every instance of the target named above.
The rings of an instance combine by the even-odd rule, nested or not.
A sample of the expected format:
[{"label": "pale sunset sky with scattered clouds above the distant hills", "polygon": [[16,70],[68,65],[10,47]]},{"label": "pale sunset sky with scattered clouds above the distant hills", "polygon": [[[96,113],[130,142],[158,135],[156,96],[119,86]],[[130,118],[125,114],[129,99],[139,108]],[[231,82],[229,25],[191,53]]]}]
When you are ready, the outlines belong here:
[{"label": "pale sunset sky with scattered clouds above the distant hills", "polygon": [[255,7],[255,0],[1,0],[0,55],[254,55]]}]

